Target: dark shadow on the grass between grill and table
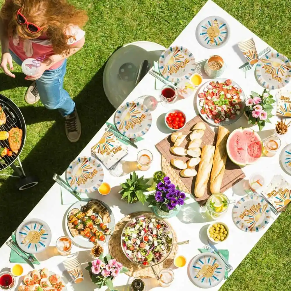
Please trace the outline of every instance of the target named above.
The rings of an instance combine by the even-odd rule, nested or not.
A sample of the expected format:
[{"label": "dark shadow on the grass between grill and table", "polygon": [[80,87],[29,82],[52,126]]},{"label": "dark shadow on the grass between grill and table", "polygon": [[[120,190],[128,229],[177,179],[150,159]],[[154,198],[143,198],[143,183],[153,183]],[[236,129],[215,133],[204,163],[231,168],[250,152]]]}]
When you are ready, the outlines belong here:
[{"label": "dark shadow on the grass between grill and table", "polygon": [[[10,219],[9,223],[2,227],[0,246],[53,185],[53,174],[63,173],[72,159],[87,145],[88,141],[92,139],[98,129],[115,110],[107,100],[103,90],[102,75],[104,67],[105,64],[98,70],[79,95],[74,97],[82,123],[82,135],[77,143],[70,143],[68,141],[65,135],[65,123],[58,111],[52,112],[45,109],[45,107],[20,107],[26,125],[49,120],[56,120],[56,123],[22,161],[26,175],[38,175],[39,184],[36,187],[18,191],[15,189],[15,183],[18,178],[11,177],[7,180],[2,180],[0,217],[11,217],[12,213],[16,215],[13,215],[13,219]],[[17,78],[17,87],[29,85],[28,81],[22,81],[23,78],[17,77],[19,77]],[[0,74],[0,84],[1,90],[16,87],[15,80],[5,74]],[[56,193],[56,195],[59,194]]]}]

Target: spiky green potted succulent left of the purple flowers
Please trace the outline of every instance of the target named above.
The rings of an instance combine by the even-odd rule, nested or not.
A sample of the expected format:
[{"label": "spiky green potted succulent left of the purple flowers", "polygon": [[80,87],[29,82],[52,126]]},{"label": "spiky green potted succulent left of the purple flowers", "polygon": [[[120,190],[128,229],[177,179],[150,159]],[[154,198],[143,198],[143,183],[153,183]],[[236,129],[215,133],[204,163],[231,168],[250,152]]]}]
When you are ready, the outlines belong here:
[{"label": "spiky green potted succulent left of the purple flowers", "polygon": [[148,188],[151,187],[150,184],[146,184],[150,179],[144,179],[143,176],[139,178],[135,171],[130,174],[130,178],[126,179],[125,183],[121,183],[121,190],[119,193],[122,195],[121,199],[127,201],[127,203],[135,203],[137,201],[142,204],[145,203],[146,198],[143,194],[148,192]]}]

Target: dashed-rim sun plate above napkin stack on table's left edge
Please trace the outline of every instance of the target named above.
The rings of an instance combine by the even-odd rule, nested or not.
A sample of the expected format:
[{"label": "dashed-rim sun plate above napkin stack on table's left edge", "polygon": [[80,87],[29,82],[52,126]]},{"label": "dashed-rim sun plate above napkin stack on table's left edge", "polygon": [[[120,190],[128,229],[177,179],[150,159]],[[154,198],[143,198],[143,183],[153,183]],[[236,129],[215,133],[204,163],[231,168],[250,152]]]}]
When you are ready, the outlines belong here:
[{"label": "dashed-rim sun plate above napkin stack on table's left edge", "polygon": [[135,138],[143,136],[149,131],[152,125],[152,115],[145,105],[126,102],[117,109],[114,122],[121,134],[128,138]]}]

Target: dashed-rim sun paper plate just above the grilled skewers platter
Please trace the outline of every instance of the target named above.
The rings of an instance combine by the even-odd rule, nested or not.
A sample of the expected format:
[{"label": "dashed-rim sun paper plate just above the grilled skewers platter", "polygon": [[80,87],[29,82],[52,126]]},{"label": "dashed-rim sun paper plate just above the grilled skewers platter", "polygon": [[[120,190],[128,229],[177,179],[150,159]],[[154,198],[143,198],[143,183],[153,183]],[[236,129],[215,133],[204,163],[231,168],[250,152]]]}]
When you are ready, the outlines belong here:
[{"label": "dashed-rim sun paper plate just above the grilled skewers platter", "polygon": [[80,193],[96,191],[103,182],[104,172],[100,162],[92,157],[78,157],[66,171],[70,187]]}]

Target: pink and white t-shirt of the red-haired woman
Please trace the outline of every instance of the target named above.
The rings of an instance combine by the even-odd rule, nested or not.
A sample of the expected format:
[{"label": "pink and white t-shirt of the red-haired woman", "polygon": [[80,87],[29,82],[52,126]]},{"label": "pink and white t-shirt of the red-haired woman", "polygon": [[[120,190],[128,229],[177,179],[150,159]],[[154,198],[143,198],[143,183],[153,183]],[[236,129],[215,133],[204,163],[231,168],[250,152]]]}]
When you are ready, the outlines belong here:
[{"label": "pink and white t-shirt of the red-haired woman", "polygon": [[[73,25],[70,26],[65,33],[76,38],[70,38],[68,40],[68,45],[75,44],[85,35],[85,31],[80,29],[79,26]],[[55,54],[51,40],[47,39],[45,36],[31,40],[24,40],[18,36],[14,36],[13,38],[11,37],[9,38],[9,49],[14,52],[22,61],[27,58],[35,58],[38,61],[43,61],[45,58]],[[52,67],[49,68],[49,70],[58,68],[62,63],[63,61],[55,63]]]}]

